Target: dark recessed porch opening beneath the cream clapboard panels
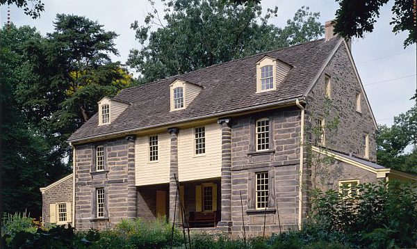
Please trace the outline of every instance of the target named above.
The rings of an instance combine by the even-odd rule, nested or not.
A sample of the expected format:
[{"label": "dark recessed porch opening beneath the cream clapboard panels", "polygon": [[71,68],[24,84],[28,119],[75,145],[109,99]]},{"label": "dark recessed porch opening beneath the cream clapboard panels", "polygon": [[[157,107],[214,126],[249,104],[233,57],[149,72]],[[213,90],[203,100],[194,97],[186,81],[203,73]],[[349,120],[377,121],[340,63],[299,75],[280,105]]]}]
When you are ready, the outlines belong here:
[{"label": "dark recessed porch opening beneath the cream clapboard panels", "polygon": [[[170,197],[169,184],[138,186],[137,193],[137,217],[152,220],[165,216],[172,221],[175,209],[175,222],[182,225],[181,207],[179,204],[175,207],[174,201],[170,203],[170,199],[175,200],[175,192],[171,192]],[[180,182],[177,198],[181,200],[190,227],[217,226],[221,210],[220,177]]]}]

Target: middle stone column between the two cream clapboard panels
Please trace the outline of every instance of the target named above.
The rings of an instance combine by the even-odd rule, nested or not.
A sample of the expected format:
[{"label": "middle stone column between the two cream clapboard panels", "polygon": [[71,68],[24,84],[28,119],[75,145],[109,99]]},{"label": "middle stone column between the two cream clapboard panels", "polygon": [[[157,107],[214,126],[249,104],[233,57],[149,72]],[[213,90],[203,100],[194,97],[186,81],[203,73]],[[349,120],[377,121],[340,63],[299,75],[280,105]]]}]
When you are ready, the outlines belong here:
[{"label": "middle stone column between the two cream clapboard panels", "polygon": [[[179,220],[180,207],[179,207],[179,193],[177,193],[177,183],[175,182],[175,176],[178,179],[178,128],[169,128],[168,132],[171,134],[171,156],[170,156],[170,221],[175,222]],[[175,196],[177,195],[177,202],[175,202]]]}]

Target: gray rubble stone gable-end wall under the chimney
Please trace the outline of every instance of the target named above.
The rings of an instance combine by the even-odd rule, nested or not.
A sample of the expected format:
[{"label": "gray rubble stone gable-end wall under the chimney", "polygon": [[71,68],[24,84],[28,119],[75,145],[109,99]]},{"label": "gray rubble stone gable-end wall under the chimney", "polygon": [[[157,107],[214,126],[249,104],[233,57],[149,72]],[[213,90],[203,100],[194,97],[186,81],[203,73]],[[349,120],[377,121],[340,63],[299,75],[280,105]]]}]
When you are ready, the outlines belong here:
[{"label": "gray rubble stone gable-end wall under the chimney", "polygon": [[[326,136],[325,146],[338,152],[352,153],[354,156],[363,158],[361,136],[365,132],[369,134],[369,159],[376,161],[376,128],[373,124],[372,113],[368,109],[366,95],[361,92],[359,81],[357,81],[347,53],[349,52],[342,44],[318,78],[316,86],[312,88],[307,99],[306,121],[309,121],[309,118],[314,120],[325,116],[322,110],[325,102],[325,74],[327,74],[331,77],[332,82],[332,105],[326,121],[329,122],[334,119],[335,115],[339,115],[340,124],[334,135],[328,134],[329,136]],[[356,111],[357,93],[362,93],[361,113]]]}]

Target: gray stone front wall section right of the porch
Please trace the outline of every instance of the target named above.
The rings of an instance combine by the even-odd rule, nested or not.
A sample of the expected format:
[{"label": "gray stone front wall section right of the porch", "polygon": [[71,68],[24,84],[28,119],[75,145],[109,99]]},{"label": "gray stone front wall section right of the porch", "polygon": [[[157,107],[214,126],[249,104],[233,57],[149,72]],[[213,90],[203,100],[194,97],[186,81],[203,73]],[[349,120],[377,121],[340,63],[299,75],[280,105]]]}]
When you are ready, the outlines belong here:
[{"label": "gray stone front wall section right of the porch", "polygon": [[[270,119],[270,150],[265,152],[256,152],[254,146],[255,122],[259,118]],[[263,234],[264,217],[265,234],[279,232],[279,225],[283,231],[297,228],[300,124],[300,109],[295,106],[234,118],[231,121],[232,234],[243,234],[240,193],[247,235]],[[265,171],[268,171],[270,177],[271,196],[266,214],[264,210],[255,210],[254,207],[254,175]]]}]

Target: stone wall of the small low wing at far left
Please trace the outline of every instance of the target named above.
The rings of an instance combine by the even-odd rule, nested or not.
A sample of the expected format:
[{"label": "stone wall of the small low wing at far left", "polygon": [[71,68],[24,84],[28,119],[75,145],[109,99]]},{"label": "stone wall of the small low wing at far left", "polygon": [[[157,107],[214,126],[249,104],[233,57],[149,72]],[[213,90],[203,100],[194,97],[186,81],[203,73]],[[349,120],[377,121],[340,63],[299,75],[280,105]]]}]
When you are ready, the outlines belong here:
[{"label": "stone wall of the small low wing at far left", "polygon": [[44,224],[48,224],[50,221],[49,204],[71,202],[71,207],[67,207],[67,209],[72,209],[72,179],[70,177],[42,193],[42,220]]}]

